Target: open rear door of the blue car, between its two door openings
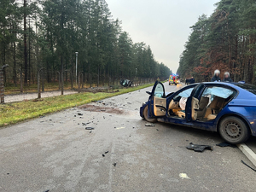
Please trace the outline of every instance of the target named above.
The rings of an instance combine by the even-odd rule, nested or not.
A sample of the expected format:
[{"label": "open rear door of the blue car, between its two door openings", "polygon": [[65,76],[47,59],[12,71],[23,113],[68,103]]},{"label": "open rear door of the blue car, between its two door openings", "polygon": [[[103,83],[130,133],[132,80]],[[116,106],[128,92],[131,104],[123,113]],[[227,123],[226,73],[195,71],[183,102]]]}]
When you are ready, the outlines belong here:
[{"label": "open rear door of the blue car, between its two door openings", "polygon": [[191,95],[189,96],[186,102],[186,121],[195,121],[197,119],[197,110],[199,109],[199,101],[201,94],[205,88],[205,84],[198,84],[192,90]]}]

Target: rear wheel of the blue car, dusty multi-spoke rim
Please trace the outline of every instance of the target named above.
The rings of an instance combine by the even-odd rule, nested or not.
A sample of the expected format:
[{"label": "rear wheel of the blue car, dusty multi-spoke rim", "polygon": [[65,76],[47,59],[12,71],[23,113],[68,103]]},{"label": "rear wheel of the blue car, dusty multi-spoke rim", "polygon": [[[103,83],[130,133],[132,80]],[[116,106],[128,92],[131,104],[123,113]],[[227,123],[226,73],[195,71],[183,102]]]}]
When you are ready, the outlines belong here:
[{"label": "rear wheel of the blue car, dusty multi-spoke rim", "polygon": [[236,117],[222,119],[218,126],[218,131],[221,137],[231,144],[244,143],[250,137],[247,125]]}]

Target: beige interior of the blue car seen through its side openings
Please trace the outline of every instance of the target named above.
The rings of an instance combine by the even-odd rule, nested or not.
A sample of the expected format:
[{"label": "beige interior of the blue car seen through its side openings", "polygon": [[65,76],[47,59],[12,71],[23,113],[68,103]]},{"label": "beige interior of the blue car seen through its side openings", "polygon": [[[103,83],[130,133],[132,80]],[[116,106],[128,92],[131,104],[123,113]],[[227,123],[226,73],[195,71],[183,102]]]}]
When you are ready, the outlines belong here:
[{"label": "beige interior of the blue car seen through its side openings", "polygon": [[[191,91],[192,90],[188,90],[187,93],[181,92],[173,97],[168,107],[170,116],[175,118],[185,118],[186,113],[184,108],[181,108],[183,106],[181,101],[186,101],[184,97],[189,97]],[[215,119],[222,108],[224,108],[234,96],[236,96],[236,91],[234,90],[216,86],[207,87],[200,100],[195,97],[191,98],[191,118],[198,121]]]}]

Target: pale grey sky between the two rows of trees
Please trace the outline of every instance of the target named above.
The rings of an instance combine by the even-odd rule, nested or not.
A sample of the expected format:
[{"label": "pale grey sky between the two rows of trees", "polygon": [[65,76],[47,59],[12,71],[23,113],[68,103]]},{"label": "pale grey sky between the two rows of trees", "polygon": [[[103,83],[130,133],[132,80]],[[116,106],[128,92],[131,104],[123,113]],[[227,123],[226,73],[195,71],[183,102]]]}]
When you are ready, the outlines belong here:
[{"label": "pale grey sky between the two rows of trees", "polygon": [[212,15],[219,0],[106,0],[113,19],[122,20],[133,43],[150,45],[156,61],[177,71],[191,29],[202,14]]}]

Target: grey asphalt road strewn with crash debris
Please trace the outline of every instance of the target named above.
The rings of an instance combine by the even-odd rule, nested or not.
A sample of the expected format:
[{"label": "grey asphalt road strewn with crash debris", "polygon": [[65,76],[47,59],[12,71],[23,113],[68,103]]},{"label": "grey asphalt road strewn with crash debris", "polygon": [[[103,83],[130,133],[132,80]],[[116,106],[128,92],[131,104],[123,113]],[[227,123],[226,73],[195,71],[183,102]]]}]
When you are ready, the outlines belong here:
[{"label": "grey asphalt road strewn with crash debris", "polygon": [[218,133],[146,127],[138,114],[146,90],[0,130],[0,191],[255,191],[255,172],[241,160],[252,164],[238,148],[215,146]]}]

